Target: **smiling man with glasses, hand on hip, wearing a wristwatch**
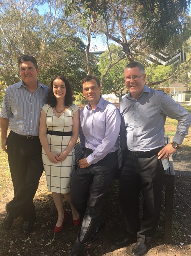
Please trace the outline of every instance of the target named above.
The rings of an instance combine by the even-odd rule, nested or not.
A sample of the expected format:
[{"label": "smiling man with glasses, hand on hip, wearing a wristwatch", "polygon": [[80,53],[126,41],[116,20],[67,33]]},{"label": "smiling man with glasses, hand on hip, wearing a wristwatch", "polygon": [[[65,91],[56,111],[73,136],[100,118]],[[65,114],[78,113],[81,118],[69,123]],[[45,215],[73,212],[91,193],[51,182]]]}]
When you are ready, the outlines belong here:
[{"label": "smiling man with glasses, hand on hip, wearing a wristwatch", "polygon": [[[124,71],[129,93],[120,102],[120,145],[123,164],[120,176],[120,201],[125,221],[124,235],[116,238],[117,246],[135,241],[133,256],[147,253],[160,215],[165,170],[163,159],[179,149],[191,124],[189,114],[164,92],[148,88],[146,74],[139,62],[129,63]],[[166,117],[178,120],[173,142],[164,146]],[[142,191],[143,217],[139,219],[139,193]]]}]

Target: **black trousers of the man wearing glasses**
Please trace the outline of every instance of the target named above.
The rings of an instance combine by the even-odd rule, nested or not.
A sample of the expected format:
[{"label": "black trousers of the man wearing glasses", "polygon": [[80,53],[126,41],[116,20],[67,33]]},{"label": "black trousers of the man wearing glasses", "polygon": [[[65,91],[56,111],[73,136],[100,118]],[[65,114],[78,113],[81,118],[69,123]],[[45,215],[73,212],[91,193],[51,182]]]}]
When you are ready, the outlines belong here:
[{"label": "black trousers of the man wearing glasses", "polygon": [[[157,155],[138,157],[123,151],[120,201],[126,235],[148,244],[154,236],[160,215],[165,171]],[[143,195],[143,216],[139,218],[139,194]]]}]

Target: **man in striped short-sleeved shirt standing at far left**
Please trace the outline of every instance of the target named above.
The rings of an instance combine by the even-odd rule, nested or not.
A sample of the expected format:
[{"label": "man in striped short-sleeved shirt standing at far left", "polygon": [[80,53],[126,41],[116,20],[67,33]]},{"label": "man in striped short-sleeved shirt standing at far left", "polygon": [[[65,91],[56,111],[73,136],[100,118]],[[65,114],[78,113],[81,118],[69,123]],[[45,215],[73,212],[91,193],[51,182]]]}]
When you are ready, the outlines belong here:
[{"label": "man in striped short-sleeved shirt standing at far left", "polygon": [[22,81],[6,89],[1,111],[2,149],[8,154],[14,187],[3,224],[10,230],[13,220],[21,215],[26,221],[23,233],[28,234],[36,219],[33,198],[43,172],[39,122],[49,88],[37,80],[39,69],[33,56],[21,56],[18,68]]}]

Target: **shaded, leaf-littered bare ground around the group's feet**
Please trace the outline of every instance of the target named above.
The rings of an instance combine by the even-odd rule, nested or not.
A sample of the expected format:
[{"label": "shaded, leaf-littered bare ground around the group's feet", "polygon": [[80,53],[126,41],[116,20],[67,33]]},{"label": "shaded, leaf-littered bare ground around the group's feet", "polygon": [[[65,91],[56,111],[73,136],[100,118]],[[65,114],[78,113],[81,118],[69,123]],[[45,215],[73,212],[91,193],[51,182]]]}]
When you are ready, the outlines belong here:
[{"label": "shaded, leaf-littered bare ground around the group's feet", "polygon": [[[172,244],[163,243],[163,216],[164,206],[162,205],[161,218],[155,238],[149,245],[148,256],[185,256],[191,255],[191,178],[175,177],[175,210],[173,224]],[[43,173],[39,188],[34,198],[36,205],[37,220],[29,235],[22,233],[24,221],[17,218],[11,230],[3,229],[3,218],[6,215],[5,204],[13,198],[13,188],[7,186],[5,194],[0,197],[0,255],[3,256],[61,256],[68,255],[76,239],[78,227],[72,223],[70,206],[66,201],[63,205],[68,212],[68,218],[63,231],[54,234],[53,228],[57,220],[57,211],[51,194],[47,191],[45,173]],[[112,239],[123,231],[123,218],[118,198],[118,180],[113,181],[102,212],[106,222],[105,228],[100,232],[99,239],[86,246],[86,256],[125,256],[130,255],[132,244],[126,248],[117,248],[112,244]]]}]

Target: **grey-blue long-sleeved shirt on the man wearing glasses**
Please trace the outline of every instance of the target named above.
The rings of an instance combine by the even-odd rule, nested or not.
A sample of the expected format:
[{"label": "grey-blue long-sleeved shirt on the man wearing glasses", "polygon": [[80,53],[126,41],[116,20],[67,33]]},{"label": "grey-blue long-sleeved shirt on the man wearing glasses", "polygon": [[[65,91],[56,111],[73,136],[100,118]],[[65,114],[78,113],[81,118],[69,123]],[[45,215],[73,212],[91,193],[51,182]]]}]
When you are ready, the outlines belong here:
[{"label": "grey-blue long-sleeved shirt on the man wearing glasses", "polygon": [[191,125],[191,114],[166,93],[144,85],[141,95],[133,99],[128,93],[120,102],[120,145],[131,151],[149,151],[165,144],[166,117],[178,120],[173,141],[182,144]]}]

